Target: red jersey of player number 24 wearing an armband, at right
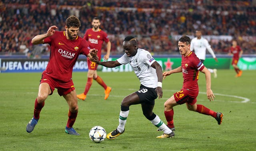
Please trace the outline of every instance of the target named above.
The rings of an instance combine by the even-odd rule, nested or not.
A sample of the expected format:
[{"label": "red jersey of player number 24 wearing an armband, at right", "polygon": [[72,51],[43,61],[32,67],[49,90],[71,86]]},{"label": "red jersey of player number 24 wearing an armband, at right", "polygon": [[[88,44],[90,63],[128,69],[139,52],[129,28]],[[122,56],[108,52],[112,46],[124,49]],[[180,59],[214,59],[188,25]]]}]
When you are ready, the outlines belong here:
[{"label": "red jersey of player number 24 wearing an armband, at right", "polygon": [[197,58],[194,52],[181,59],[183,74],[183,88],[198,90],[198,73],[204,69],[204,64]]}]

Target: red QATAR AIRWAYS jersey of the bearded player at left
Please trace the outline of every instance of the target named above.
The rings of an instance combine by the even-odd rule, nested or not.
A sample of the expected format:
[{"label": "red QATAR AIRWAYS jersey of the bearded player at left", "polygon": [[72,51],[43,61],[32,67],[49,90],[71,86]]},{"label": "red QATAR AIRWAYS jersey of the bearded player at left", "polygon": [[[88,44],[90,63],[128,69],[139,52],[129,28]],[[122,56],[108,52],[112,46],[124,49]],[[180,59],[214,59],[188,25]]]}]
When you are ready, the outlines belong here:
[{"label": "red QATAR AIRWAYS jersey of the bearded player at left", "polygon": [[87,56],[90,53],[86,40],[79,36],[75,40],[68,40],[65,31],[55,31],[44,39],[44,43],[51,47],[50,60],[44,72],[62,83],[72,80],[73,67],[79,54]]}]

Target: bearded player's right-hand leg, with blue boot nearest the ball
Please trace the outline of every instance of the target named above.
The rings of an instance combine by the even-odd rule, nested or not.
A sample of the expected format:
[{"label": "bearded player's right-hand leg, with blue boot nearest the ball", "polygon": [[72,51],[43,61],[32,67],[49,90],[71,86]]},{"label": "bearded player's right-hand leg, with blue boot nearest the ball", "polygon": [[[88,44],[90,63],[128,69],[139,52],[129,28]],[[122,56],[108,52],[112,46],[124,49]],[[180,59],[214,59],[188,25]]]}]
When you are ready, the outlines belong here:
[{"label": "bearded player's right-hand leg, with blue boot nearest the ball", "polygon": [[78,104],[77,104],[77,97],[76,97],[76,90],[73,89],[70,93],[63,95],[66,99],[69,111],[68,111],[68,122],[66,125],[65,132],[71,135],[80,135],[75,131],[73,125],[76,121],[77,113],[78,113]]}]

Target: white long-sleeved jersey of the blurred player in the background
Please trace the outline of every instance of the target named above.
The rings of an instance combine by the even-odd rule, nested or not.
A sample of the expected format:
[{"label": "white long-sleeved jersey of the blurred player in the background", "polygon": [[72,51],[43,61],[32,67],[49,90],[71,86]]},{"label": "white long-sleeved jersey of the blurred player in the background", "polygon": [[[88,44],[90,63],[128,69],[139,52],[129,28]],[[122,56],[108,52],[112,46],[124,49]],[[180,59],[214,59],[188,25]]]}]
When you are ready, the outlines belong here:
[{"label": "white long-sleeved jersey of the blurred player in the background", "polygon": [[210,44],[205,38],[197,39],[193,38],[190,43],[190,50],[195,52],[196,56],[201,59],[205,60],[205,55],[206,55],[206,49],[210,54],[212,55],[213,58],[216,58]]}]

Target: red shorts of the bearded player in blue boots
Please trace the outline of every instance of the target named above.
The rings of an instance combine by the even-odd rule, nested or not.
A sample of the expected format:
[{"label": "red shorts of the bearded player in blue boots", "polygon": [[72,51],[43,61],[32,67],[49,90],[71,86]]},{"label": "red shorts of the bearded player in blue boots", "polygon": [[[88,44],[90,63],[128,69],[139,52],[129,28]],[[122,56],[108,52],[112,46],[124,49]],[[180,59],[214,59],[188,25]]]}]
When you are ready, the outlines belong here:
[{"label": "red shorts of the bearded player in blue boots", "polygon": [[[74,83],[72,80],[68,83],[61,83],[60,81],[52,79],[52,77],[48,76],[47,74],[42,74],[42,79],[40,80],[40,83],[48,83],[50,86],[50,89],[52,90],[52,93],[54,89],[58,89],[58,94],[60,96],[67,95],[71,91],[75,89]],[[52,95],[52,93],[50,95]]]}]

